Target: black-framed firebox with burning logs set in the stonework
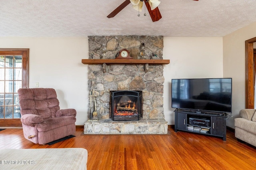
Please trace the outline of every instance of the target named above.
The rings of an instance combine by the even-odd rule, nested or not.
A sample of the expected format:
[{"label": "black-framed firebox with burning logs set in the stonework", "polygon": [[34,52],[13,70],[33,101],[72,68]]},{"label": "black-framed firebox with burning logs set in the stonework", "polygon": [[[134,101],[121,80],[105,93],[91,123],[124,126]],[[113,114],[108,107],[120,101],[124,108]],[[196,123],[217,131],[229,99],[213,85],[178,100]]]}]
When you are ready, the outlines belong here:
[{"label": "black-framed firebox with burning logs set in the stonework", "polygon": [[140,120],[142,91],[111,91],[110,117],[112,120]]}]

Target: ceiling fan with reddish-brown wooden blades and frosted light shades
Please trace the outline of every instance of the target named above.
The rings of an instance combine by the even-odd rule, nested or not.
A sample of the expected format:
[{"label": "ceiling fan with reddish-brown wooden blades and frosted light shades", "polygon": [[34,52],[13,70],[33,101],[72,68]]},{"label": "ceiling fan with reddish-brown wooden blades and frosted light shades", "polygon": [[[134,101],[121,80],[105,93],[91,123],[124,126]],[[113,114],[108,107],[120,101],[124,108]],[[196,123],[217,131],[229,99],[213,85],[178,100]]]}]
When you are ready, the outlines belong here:
[{"label": "ceiling fan with reddish-brown wooden blades and frosted light shades", "polygon": [[[124,9],[128,4],[132,3],[134,9],[138,9],[139,11],[142,8],[143,1],[148,9],[148,13],[153,22],[158,21],[162,18],[161,13],[158,9],[158,5],[160,4],[159,0],[125,0],[120,6],[118,6],[113,12],[111,12],[107,17],[113,18],[118,14],[122,9]],[[195,0],[198,1],[198,0]],[[145,15],[145,14],[144,14]],[[140,16],[138,14],[138,16]]]}]

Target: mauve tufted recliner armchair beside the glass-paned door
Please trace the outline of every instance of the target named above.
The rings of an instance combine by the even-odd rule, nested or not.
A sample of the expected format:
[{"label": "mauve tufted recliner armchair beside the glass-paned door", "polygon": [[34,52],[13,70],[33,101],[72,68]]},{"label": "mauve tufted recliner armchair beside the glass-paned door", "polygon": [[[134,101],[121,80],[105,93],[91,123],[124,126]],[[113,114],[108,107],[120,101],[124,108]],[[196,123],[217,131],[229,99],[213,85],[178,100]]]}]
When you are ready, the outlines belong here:
[{"label": "mauve tufted recliner armchair beside the glass-paned door", "polygon": [[24,137],[46,144],[76,132],[76,110],[60,109],[52,88],[20,88],[21,122]]}]

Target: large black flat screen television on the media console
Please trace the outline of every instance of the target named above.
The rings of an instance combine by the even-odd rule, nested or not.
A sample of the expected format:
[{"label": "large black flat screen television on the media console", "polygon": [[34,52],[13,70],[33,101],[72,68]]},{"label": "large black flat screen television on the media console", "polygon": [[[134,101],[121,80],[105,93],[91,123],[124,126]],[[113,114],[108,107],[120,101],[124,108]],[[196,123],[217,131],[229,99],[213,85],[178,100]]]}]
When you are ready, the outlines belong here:
[{"label": "large black flat screen television on the media console", "polygon": [[172,79],[172,108],[231,113],[232,78]]}]

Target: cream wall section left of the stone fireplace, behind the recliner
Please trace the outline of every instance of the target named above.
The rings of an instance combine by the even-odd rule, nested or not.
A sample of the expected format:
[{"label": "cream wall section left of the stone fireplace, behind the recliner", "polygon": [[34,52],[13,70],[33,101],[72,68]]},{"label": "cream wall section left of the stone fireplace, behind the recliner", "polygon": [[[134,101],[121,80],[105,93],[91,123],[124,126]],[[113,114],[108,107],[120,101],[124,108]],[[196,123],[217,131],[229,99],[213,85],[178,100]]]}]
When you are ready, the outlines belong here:
[{"label": "cream wall section left of the stone fireplace, behind the recliner", "polygon": [[87,120],[88,39],[86,38],[0,38],[0,48],[30,49],[29,87],[54,88],[60,108],[77,111],[76,125]]}]

